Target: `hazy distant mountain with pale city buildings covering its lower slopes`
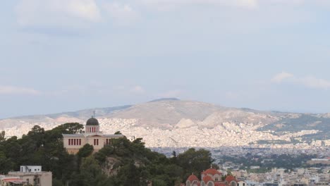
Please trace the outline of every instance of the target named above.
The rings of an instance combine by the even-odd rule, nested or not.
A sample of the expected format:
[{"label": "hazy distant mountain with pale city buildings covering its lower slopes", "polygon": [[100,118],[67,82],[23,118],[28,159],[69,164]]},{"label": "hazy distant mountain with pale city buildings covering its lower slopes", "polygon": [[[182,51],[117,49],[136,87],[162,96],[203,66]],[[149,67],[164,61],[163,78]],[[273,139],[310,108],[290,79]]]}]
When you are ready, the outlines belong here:
[{"label": "hazy distant mountain with pale city buildings covering its lower slopes", "polygon": [[[44,128],[66,122],[85,123],[95,111],[105,132],[121,130],[143,137],[152,147],[246,145],[291,140],[330,140],[330,114],[286,113],[237,109],[176,98],[147,103],[0,120],[0,130],[23,135],[33,125]],[[212,142],[203,141],[203,139]],[[223,139],[223,140],[221,140]],[[235,144],[230,140],[235,141]],[[216,143],[215,143],[216,142]]]}]

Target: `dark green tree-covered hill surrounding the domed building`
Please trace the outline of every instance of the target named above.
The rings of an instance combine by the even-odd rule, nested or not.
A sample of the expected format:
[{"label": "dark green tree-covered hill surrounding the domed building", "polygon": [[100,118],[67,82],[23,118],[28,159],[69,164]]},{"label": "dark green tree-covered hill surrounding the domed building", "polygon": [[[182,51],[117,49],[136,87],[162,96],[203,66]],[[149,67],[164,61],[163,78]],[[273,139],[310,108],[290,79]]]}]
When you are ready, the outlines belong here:
[{"label": "dark green tree-covered hill surrounding the domed building", "polygon": [[112,140],[97,153],[86,144],[78,154],[63,148],[62,134],[80,131],[83,125],[66,123],[52,130],[34,126],[23,137],[4,138],[0,133],[0,173],[18,171],[21,165],[40,165],[53,173],[53,185],[180,185],[188,175],[199,176],[212,164],[211,153],[188,149],[166,158],[145,148],[141,138]]}]

